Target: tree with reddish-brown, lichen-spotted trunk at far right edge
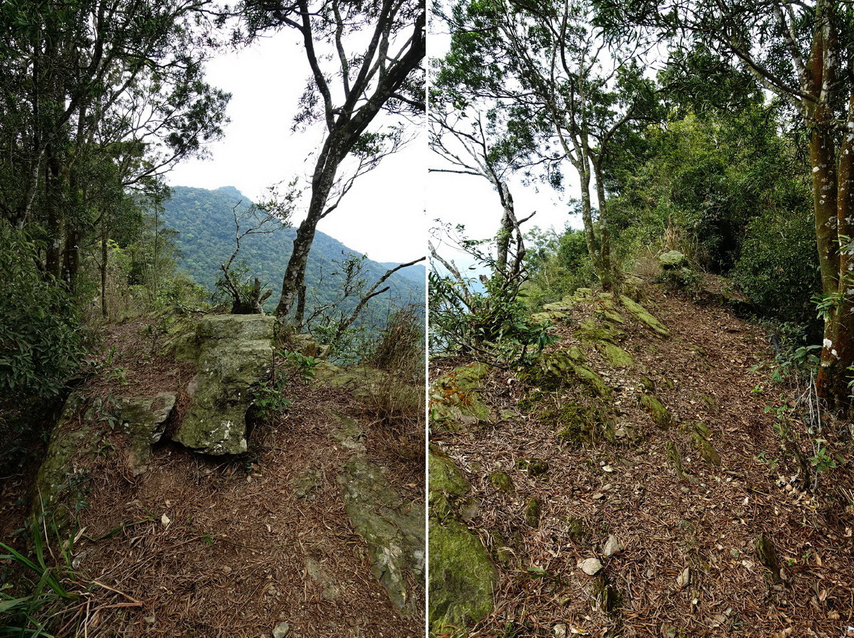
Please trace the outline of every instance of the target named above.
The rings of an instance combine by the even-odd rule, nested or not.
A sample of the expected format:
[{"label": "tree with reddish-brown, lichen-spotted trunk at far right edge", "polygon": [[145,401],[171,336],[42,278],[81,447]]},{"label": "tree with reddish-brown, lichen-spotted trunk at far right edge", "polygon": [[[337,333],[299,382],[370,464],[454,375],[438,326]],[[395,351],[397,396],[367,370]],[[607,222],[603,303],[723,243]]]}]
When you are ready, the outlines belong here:
[{"label": "tree with reddish-brown, lichen-spotted trunk at far right edge", "polygon": [[[740,65],[787,102],[803,122],[810,151],[816,246],[824,300],[817,390],[848,403],[854,363],[854,16],[834,0],[741,3],[699,0],[659,7],[651,0],[599,0],[599,20],[615,30],[651,28],[681,49],[697,43]],[[686,35],[691,39],[685,41]]]}]

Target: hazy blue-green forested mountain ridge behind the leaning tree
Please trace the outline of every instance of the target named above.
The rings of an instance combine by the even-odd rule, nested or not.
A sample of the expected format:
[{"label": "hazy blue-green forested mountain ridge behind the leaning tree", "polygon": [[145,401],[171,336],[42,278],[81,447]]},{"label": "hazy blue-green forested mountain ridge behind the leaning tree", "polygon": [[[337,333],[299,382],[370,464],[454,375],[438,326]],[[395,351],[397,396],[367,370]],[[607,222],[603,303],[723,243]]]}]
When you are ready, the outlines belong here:
[{"label": "hazy blue-green forested mountain ridge behind the leaning tree", "polygon": [[[220,273],[219,265],[228,260],[235,246],[232,210],[235,206],[245,210],[250,204],[251,200],[233,186],[216,190],[173,187],[172,197],[164,203],[163,223],[178,232],[175,243],[183,253],[178,267],[186,270],[197,283],[213,290]],[[236,261],[245,260],[251,275],[259,277],[272,290],[265,310],[272,310],[278,304],[295,235],[296,229],[283,228],[271,234],[248,235],[241,240]],[[307,312],[311,312],[315,303],[327,304],[337,298],[344,281],[340,263],[350,255],[360,254],[330,235],[317,232],[306,268]],[[366,280],[366,287],[370,287],[396,265],[366,259],[360,277]],[[399,270],[386,281],[389,291],[371,299],[365,318],[381,320],[391,309],[407,304],[423,307],[424,279],[422,264]],[[357,302],[358,299],[348,299],[342,310],[349,310]]]}]

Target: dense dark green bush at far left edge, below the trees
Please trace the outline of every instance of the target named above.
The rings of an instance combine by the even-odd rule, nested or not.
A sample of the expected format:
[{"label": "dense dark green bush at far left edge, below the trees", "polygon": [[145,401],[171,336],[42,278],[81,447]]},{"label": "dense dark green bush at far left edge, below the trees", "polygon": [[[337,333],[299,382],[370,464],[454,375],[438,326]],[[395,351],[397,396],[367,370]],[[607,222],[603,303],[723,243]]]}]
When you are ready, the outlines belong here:
[{"label": "dense dark green bush at far left edge, below the trees", "polygon": [[0,395],[52,397],[83,359],[85,334],[76,301],[58,281],[44,281],[36,246],[0,223]]}]

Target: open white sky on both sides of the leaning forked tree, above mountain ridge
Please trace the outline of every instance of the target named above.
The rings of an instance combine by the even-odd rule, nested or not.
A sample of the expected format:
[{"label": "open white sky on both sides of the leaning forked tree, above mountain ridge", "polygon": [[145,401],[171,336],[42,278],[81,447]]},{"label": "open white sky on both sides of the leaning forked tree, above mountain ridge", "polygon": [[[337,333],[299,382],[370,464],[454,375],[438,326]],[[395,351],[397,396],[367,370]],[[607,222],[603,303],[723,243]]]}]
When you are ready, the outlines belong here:
[{"label": "open white sky on both sides of the leaning forked tree, above mountain ridge", "polygon": [[[290,131],[308,75],[300,40],[287,30],[210,61],[208,83],[232,94],[227,109],[231,123],[224,139],[209,146],[209,159],[185,161],[167,175],[167,182],[234,186],[258,201],[272,184],[287,183],[295,174],[310,175],[313,162],[307,157],[319,147],[319,131]],[[375,261],[403,263],[426,254],[425,154],[421,133],[360,177],[318,230]]]}]

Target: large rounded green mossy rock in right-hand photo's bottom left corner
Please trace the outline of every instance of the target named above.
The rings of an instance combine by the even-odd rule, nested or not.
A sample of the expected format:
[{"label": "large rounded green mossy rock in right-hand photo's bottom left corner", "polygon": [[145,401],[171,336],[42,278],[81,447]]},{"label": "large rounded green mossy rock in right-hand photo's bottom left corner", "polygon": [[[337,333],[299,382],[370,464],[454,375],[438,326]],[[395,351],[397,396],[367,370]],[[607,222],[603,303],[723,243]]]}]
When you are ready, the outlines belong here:
[{"label": "large rounded green mossy rock in right-hand photo's bottom left corner", "polygon": [[492,611],[498,572],[483,542],[459,521],[431,521],[428,573],[431,634],[459,630]]}]

